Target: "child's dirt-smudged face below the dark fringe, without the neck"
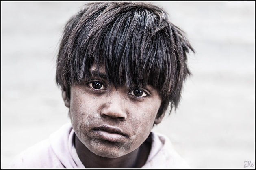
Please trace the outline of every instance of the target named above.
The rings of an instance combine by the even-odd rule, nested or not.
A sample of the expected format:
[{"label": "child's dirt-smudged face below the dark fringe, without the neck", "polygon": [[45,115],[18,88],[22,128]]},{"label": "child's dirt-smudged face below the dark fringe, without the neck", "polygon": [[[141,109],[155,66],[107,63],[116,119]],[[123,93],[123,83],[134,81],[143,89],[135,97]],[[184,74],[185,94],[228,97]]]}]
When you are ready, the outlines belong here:
[{"label": "child's dirt-smudged face below the dark fringe, without the neck", "polygon": [[[95,70],[94,67],[91,71]],[[100,73],[105,74],[104,67]],[[93,153],[116,158],[137,149],[148,137],[161,98],[150,85],[139,89],[115,88],[106,79],[91,76],[84,85],[72,85],[69,114],[80,141]]]}]

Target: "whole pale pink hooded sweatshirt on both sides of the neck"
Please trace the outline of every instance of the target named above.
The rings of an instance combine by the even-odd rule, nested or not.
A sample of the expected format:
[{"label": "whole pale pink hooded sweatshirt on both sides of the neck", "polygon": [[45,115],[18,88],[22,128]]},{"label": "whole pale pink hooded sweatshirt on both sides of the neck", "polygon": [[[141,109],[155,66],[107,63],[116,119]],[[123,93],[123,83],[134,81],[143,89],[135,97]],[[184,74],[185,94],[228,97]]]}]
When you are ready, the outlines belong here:
[{"label": "whole pale pink hooded sweatshirt on both sides of the neck", "polygon": [[[70,123],[26,149],[15,157],[9,168],[85,168],[74,147],[74,130]],[[170,140],[161,134],[152,133],[152,146],[142,168],[189,168],[176,153]]]}]

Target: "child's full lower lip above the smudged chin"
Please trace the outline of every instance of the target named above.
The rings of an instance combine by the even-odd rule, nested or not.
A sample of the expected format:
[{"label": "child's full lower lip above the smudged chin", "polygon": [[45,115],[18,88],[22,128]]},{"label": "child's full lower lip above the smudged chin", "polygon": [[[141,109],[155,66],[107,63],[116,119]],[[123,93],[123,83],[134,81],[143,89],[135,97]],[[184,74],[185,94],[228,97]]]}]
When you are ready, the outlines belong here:
[{"label": "child's full lower lip above the smudged chin", "polygon": [[108,140],[110,142],[123,142],[126,138],[126,136],[124,135],[111,133],[104,130],[95,130],[95,132],[100,136],[100,138]]}]

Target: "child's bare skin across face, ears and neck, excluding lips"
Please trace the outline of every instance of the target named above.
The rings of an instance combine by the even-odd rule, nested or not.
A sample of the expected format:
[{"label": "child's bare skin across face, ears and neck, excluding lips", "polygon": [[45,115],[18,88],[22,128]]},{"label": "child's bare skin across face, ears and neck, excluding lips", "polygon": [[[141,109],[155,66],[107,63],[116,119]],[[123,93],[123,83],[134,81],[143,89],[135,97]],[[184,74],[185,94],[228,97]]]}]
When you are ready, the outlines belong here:
[{"label": "child's bare skin across face, ears and neck, excluding lips", "polygon": [[[95,70],[93,66],[91,72]],[[104,66],[100,74],[104,75]],[[148,138],[152,127],[163,119],[156,119],[161,98],[152,86],[143,87],[143,94],[136,96],[136,89],[126,85],[115,87],[106,79],[91,75],[92,81],[71,85],[70,100],[63,92],[65,106],[76,134],[75,148],[86,168],[141,168],[148,158]],[[100,89],[95,88],[95,83]],[[138,88],[137,88],[138,89]],[[96,127],[107,125],[119,128],[125,135],[108,140],[102,138]],[[102,131],[101,131],[102,132]],[[139,159],[138,159],[139,158]]]}]

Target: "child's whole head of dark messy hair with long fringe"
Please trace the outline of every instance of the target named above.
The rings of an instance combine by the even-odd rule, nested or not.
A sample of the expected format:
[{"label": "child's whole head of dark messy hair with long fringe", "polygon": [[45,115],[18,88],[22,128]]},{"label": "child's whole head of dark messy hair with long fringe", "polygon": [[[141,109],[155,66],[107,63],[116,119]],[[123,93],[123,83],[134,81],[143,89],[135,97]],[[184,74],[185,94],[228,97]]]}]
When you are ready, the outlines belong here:
[{"label": "child's whole head of dark messy hair with long fringe", "polygon": [[[178,106],[194,52],[184,32],[163,9],[146,2],[88,3],[65,25],[57,58],[56,83],[70,98],[70,86],[89,80],[93,64],[104,63],[108,83],[128,88],[152,85],[162,103]],[[171,113],[171,111],[170,111]]]}]

